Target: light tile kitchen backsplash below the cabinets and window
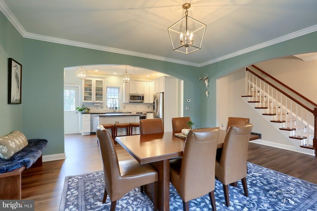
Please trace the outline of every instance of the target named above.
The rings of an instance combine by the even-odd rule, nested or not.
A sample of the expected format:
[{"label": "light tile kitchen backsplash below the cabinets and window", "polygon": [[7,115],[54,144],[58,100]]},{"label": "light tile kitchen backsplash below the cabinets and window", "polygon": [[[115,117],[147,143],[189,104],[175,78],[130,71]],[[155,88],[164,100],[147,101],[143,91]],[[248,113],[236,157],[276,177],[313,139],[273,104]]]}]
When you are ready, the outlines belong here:
[{"label": "light tile kitchen backsplash below the cabinets and window", "polygon": [[[104,104],[94,105],[93,103],[83,103],[83,105],[90,108],[90,113],[102,113],[102,112],[109,112],[114,111],[112,109],[107,109]],[[119,107],[116,109],[117,111],[122,112],[152,112],[153,111],[153,104],[145,104],[145,103],[129,103],[123,104],[123,107]]]}]

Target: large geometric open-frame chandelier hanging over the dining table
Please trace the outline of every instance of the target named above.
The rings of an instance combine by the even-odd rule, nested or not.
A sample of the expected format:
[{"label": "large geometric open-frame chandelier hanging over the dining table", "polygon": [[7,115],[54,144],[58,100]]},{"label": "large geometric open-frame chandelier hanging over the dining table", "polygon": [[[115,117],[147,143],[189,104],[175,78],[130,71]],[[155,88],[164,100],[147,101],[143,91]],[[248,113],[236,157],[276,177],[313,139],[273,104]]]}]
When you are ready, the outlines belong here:
[{"label": "large geometric open-frame chandelier hanging over the dining table", "polygon": [[185,54],[201,49],[207,26],[188,16],[190,6],[184,3],[185,16],[167,29],[173,50]]}]

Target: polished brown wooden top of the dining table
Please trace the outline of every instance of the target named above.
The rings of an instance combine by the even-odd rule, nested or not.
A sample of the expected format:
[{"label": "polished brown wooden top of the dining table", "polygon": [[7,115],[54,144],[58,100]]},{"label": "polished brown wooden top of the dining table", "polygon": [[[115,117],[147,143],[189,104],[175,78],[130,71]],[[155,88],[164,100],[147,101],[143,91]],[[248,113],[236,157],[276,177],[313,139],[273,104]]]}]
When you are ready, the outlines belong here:
[{"label": "polished brown wooden top of the dining table", "polygon": [[[225,134],[220,130],[217,148],[222,147]],[[180,157],[185,145],[185,139],[173,132],[118,136],[115,140],[141,164]]]}]

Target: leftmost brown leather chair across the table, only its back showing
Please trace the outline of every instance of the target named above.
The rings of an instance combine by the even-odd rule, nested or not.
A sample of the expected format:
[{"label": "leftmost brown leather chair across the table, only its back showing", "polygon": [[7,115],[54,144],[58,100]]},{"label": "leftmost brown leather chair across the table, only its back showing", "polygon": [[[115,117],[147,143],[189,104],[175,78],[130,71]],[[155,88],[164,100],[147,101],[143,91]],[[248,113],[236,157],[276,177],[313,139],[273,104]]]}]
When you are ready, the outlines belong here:
[{"label": "leftmost brown leather chair across the table, only its back showing", "polygon": [[163,133],[163,121],[161,119],[140,119],[140,134]]}]

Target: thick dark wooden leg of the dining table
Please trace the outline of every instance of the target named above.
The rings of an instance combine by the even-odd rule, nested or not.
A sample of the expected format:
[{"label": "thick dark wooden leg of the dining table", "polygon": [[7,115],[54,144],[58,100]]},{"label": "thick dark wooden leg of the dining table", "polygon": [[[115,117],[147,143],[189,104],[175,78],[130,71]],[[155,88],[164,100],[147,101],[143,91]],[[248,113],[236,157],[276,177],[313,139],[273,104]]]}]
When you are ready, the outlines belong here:
[{"label": "thick dark wooden leg of the dining table", "polygon": [[169,160],[151,163],[159,172],[158,208],[159,211],[169,211]]}]

